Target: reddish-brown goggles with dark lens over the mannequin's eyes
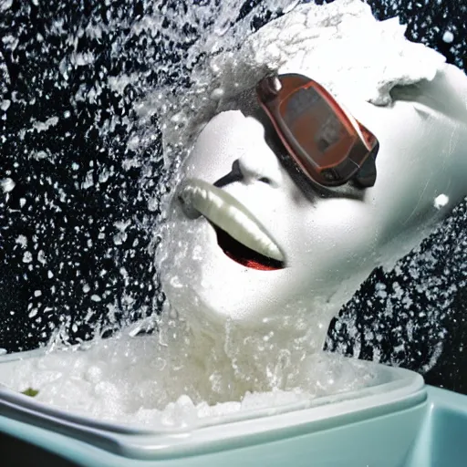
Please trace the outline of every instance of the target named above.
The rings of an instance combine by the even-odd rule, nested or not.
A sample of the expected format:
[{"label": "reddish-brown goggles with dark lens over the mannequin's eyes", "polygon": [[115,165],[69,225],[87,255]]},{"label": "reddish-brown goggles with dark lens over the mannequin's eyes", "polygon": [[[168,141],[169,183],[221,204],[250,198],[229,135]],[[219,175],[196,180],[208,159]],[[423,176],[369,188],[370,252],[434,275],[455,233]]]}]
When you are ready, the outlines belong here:
[{"label": "reddish-brown goggles with dark lens over the mannequin's eyes", "polygon": [[378,140],[320,84],[303,75],[279,75],[262,79],[256,94],[308,179],[328,187],[375,184]]}]

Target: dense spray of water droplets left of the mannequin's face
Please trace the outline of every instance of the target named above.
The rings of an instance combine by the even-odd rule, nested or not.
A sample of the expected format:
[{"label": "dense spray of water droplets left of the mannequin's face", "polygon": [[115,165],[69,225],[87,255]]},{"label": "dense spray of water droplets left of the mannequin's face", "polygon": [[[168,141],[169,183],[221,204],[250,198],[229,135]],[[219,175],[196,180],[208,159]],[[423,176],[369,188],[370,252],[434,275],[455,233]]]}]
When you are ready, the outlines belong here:
[{"label": "dense spray of water droplets left of the mannequin's face", "polygon": [[1,3],[5,347],[109,335],[161,309],[153,252],[181,109],[207,79],[193,70],[289,4]]}]

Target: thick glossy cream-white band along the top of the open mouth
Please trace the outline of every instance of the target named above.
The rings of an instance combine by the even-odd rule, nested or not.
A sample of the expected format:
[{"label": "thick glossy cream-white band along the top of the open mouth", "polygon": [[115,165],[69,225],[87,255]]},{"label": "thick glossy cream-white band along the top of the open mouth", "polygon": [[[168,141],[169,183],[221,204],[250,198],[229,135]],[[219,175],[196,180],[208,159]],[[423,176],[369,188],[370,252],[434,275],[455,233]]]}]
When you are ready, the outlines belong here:
[{"label": "thick glossy cream-white band along the top of the open mouth", "polygon": [[189,213],[193,208],[236,241],[259,254],[285,262],[285,254],[265,227],[228,192],[199,179],[182,183],[179,198]]}]

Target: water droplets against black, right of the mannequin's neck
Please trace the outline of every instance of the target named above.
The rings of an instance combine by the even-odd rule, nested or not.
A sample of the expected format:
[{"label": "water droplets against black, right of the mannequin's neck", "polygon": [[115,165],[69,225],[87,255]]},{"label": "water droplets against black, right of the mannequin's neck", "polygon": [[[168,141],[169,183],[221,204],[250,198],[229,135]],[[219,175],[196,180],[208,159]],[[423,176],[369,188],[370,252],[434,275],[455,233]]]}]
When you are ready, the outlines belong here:
[{"label": "water droplets against black, right of the mannequin's neck", "polygon": [[327,349],[422,374],[445,347],[462,356],[466,222],[464,200],[392,271],[375,271],[334,320]]}]

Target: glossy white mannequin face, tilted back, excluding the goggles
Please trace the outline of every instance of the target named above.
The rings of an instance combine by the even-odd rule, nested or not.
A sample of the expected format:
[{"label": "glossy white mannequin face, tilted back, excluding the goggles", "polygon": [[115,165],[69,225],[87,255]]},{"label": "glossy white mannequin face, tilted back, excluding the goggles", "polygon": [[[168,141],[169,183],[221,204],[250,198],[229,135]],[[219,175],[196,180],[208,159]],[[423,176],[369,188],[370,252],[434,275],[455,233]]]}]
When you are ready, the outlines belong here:
[{"label": "glossy white mannequin face, tilted back, excluding the goggles", "polygon": [[[372,269],[391,267],[465,195],[465,109],[443,104],[455,97],[459,83],[465,88],[464,79],[447,69],[431,83],[395,91],[390,107],[342,102],[379,139],[377,181],[363,190],[350,184],[322,190],[297,181],[259,109],[215,116],[183,166],[171,202],[162,264],[171,304],[193,327],[234,322],[286,334],[313,319],[311,344],[321,348],[330,319]],[[218,193],[213,182],[235,164],[241,176],[221,190],[261,226],[271,243],[263,253],[284,260],[282,268],[258,270],[224,253],[213,224],[233,233],[252,231],[239,226],[244,218],[235,214],[231,197],[222,198],[222,209],[210,209]],[[209,198],[205,216],[186,214],[179,195],[187,186]],[[440,205],[446,201],[440,195],[449,201]],[[246,233],[239,238],[252,241]]]}]

